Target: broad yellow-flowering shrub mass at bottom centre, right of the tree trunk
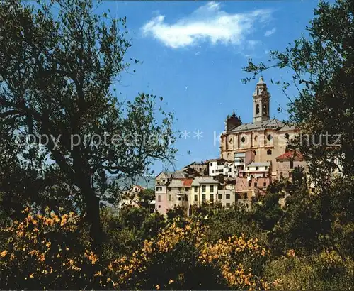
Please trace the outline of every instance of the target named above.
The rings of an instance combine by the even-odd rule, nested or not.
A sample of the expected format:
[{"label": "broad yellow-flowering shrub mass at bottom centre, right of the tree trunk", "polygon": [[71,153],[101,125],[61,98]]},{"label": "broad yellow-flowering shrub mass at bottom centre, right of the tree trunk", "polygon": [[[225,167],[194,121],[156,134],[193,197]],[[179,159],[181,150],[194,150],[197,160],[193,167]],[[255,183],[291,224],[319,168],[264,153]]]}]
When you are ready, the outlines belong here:
[{"label": "broad yellow-flowering shrub mass at bottom centre, right of the tree trunk", "polygon": [[182,226],[174,221],[157,238],[144,241],[132,256],[113,261],[105,274],[106,284],[144,290],[268,289],[258,276],[268,251],[257,239],[233,236],[212,243],[205,237],[206,228],[193,219]]}]

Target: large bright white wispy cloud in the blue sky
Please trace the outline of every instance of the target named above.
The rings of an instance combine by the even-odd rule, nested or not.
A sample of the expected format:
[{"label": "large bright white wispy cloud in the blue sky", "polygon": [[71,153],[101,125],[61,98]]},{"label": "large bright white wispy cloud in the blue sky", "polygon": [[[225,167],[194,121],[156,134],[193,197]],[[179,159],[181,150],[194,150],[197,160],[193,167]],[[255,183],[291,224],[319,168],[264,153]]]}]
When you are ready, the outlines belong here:
[{"label": "large bright white wispy cloud in the blue sky", "polygon": [[209,2],[196,9],[190,16],[176,23],[167,23],[164,15],[152,18],[142,27],[144,36],[152,36],[171,48],[196,45],[210,41],[213,45],[241,45],[254,31],[256,23],[270,19],[270,10],[258,9],[247,13],[227,13],[220,4]]}]

